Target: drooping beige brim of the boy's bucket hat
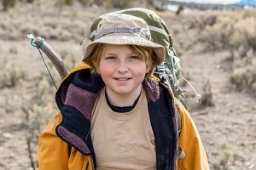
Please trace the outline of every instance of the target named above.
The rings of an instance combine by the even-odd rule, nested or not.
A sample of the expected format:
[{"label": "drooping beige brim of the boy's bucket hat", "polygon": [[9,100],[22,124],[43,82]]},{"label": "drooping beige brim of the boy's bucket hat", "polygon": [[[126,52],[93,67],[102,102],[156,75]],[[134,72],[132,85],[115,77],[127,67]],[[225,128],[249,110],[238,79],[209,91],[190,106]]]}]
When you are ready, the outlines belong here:
[{"label": "drooping beige brim of the boy's bucket hat", "polygon": [[84,49],[84,58],[82,61],[91,65],[90,56],[98,43],[114,44],[114,45],[138,45],[148,48],[153,48],[156,54],[154,63],[160,65],[165,59],[165,48],[155,42],[150,42],[144,37],[133,36],[104,36],[93,42],[90,42]]}]

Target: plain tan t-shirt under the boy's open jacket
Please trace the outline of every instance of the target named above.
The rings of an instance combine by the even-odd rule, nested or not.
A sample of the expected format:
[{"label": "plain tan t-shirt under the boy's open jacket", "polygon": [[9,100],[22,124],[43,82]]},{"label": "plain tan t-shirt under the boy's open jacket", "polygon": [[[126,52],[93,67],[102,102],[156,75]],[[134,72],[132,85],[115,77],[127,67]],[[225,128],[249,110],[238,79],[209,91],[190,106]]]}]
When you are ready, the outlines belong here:
[{"label": "plain tan t-shirt under the boy's open jacket", "polygon": [[102,89],[91,122],[96,167],[106,169],[156,169],[154,133],[143,90],[135,108],[117,113],[108,106]]}]

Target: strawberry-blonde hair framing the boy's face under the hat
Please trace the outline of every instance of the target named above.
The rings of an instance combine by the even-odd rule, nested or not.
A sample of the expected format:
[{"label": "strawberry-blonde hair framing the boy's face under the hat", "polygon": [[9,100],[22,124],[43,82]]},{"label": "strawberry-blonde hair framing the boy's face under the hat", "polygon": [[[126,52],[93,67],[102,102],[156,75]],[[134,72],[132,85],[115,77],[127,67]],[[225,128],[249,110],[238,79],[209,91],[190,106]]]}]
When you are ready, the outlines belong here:
[{"label": "strawberry-blonde hair framing the boy's face under the hat", "polygon": [[[147,68],[149,68],[148,73],[146,73],[145,78],[152,77],[154,67],[156,66],[155,59],[157,58],[156,54],[154,53],[153,48],[138,46],[138,45],[125,45],[127,48],[130,48],[132,52],[137,54],[140,58],[142,58]],[[102,54],[104,53],[105,44],[98,43],[96,48],[94,48],[93,53],[90,56],[90,61],[87,60],[87,63],[91,66],[90,70],[92,74],[98,74],[97,68],[100,65],[100,61],[102,59]]]}]

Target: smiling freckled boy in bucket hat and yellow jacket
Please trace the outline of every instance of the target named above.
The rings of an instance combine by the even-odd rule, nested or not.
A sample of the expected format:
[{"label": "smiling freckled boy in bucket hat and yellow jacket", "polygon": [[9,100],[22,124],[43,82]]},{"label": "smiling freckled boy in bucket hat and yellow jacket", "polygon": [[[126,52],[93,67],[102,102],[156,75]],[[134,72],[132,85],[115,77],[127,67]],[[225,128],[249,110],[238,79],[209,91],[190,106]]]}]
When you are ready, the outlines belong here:
[{"label": "smiling freckled boy in bucket hat and yellow jacket", "polygon": [[152,77],[164,55],[143,19],[107,14],[85,48],[87,65],[56,92],[61,113],[39,139],[38,169],[208,169],[189,114],[179,104],[178,139],[173,94]]}]

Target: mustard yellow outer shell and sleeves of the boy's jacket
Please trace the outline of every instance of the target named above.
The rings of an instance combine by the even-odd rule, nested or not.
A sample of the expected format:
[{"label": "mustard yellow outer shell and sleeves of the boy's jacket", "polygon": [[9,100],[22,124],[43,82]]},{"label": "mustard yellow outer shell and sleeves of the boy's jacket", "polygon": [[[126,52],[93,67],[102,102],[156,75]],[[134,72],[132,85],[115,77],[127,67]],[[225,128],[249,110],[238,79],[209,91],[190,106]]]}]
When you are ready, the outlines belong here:
[{"label": "mustard yellow outer shell and sleeves of the boy's jacket", "polygon": [[[88,65],[84,63],[79,64],[70,74],[61,82],[61,89],[58,88],[56,98],[58,94],[67,93],[67,88],[63,87],[71,75],[77,71],[83,71],[89,69]],[[61,91],[61,92],[60,92]],[[169,91],[170,92],[170,91]],[[174,101],[173,94],[170,92],[170,96]],[[64,100],[64,99],[62,99]],[[56,99],[58,105],[58,99]],[[173,103],[173,102],[172,102]],[[174,153],[175,165],[173,168],[164,169],[178,169],[178,170],[208,170],[208,161],[205,150],[201,143],[200,136],[196,130],[195,124],[189,116],[183,105],[177,100],[178,110],[181,117],[182,132],[180,133],[177,143],[181,146],[185,152],[185,157],[182,160],[177,161],[177,152]],[[59,104],[60,105],[60,104]],[[173,106],[173,105],[172,105]],[[61,112],[57,113],[55,117],[45,127],[44,132],[41,134],[38,143],[38,170],[93,170],[96,169],[95,158],[90,154],[86,154],[86,148],[84,146],[79,147],[79,140],[75,140],[69,147],[70,138],[76,138],[77,136],[65,136],[61,134],[61,131],[57,130],[63,122]],[[177,127],[177,125],[176,125]],[[79,135],[79,134],[78,134]],[[177,135],[177,133],[175,133]],[[175,138],[174,138],[175,139]],[[72,139],[70,139],[72,140]],[[175,140],[174,140],[175,141]],[[81,144],[80,144],[81,145]],[[175,145],[175,144],[174,144]],[[177,144],[175,145],[177,150]],[[160,167],[158,169],[163,169]]]}]

